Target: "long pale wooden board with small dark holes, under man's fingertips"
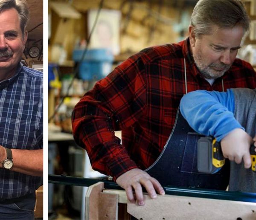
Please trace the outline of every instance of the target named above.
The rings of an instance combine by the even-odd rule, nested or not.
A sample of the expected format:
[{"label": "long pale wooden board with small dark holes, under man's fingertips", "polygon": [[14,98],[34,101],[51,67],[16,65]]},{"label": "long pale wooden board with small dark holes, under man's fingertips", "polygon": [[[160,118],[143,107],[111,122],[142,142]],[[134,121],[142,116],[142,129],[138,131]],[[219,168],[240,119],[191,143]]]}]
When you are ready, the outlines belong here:
[{"label": "long pale wooden board with small dark holes, under man's fingertips", "polygon": [[214,200],[174,195],[145,197],[145,206],[127,204],[127,211],[137,219],[143,220],[256,220],[256,203],[230,200]]}]

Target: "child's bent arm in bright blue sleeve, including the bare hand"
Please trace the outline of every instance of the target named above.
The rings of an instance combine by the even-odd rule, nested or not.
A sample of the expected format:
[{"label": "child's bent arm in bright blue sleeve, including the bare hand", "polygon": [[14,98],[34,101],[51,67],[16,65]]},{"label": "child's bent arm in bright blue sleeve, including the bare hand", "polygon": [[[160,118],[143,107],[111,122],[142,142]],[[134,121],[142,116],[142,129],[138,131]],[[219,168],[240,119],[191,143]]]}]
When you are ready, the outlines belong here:
[{"label": "child's bent arm in bright blue sleeve, including the bare hand", "polygon": [[221,141],[221,149],[226,158],[249,168],[250,143],[252,138],[234,117],[234,94],[197,90],[185,95],[180,102],[180,112],[189,125],[199,133],[214,136]]}]

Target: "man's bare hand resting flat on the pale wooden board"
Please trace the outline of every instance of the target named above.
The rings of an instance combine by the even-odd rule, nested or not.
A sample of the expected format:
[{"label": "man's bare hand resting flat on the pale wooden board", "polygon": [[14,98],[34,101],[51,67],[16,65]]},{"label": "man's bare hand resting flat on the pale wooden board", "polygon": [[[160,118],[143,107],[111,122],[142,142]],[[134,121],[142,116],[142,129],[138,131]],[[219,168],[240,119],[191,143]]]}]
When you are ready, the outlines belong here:
[{"label": "man's bare hand resting flat on the pale wooden board", "polygon": [[[148,192],[148,195],[152,199],[157,198],[156,191],[161,195],[165,194],[163,187],[155,178],[151,177],[145,171],[140,170],[138,168],[132,169],[122,174],[120,177],[116,179],[116,183],[125,189],[128,200],[131,203],[135,203],[136,198],[139,206],[145,205],[143,199],[142,186],[145,187],[145,189]],[[135,198],[133,189],[135,191]]]}]

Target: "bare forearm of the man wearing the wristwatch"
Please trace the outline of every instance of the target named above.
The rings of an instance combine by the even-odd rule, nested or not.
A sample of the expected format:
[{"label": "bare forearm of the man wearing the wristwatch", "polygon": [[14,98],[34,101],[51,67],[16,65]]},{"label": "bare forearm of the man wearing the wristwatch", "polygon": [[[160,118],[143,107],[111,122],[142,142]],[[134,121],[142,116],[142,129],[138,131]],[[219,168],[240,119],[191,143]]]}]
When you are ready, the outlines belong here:
[{"label": "bare forearm of the man wearing the wristwatch", "polygon": [[[11,149],[13,158],[12,171],[31,175],[43,176],[43,149],[20,150]],[[6,150],[0,146],[0,168],[3,168],[2,161],[6,159]]]}]

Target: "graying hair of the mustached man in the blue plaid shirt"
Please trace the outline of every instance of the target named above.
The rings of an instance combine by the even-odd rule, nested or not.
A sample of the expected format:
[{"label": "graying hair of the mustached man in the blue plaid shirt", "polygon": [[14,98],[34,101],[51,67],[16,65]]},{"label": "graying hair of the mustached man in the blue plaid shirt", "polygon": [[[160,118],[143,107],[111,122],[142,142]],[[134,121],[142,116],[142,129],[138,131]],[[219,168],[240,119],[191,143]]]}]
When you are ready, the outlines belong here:
[{"label": "graying hair of the mustached man in the blue plaid shirt", "polygon": [[26,26],[29,22],[29,8],[26,0],[0,0],[0,13],[6,9],[16,9],[20,20],[20,29],[25,36]]}]

